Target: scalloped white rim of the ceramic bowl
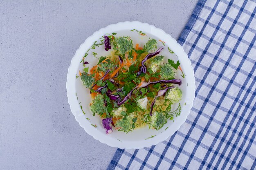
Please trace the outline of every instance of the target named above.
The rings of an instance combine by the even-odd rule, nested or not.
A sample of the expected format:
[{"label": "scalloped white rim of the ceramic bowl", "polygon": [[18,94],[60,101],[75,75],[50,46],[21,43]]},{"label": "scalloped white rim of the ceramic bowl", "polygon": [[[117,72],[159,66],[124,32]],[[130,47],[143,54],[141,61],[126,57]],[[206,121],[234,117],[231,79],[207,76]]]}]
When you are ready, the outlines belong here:
[{"label": "scalloped white rim of the ceramic bowl", "polygon": [[[77,53],[81,50],[81,47],[84,44],[88,43],[94,37],[100,37],[101,35],[103,35],[103,33],[106,33],[105,30],[115,28],[115,30],[113,30],[113,32],[114,32],[114,31],[124,30],[124,29],[126,29],[127,26],[130,26],[130,25],[132,25],[133,27],[144,27],[144,28],[150,27],[150,29],[155,31],[156,33],[161,33],[161,34],[166,35],[166,39],[173,42],[174,49],[178,49],[179,53],[182,56],[186,57],[186,59],[183,59],[183,60],[186,60],[187,66],[190,67],[189,68],[189,70],[190,70],[189,79],[190,79],[190,82],[192,83],[192,84],[190,84],[191,97],[189,99],[189,102],[186,102],[186,104],[189,105],[189,111],[186,112],[186,113],[182,113],[182,118],[183,119],[180,120],[179,122],[175,121],[175,124],[176,124],[175,129],[171,129],[169,131],[170,133],[168,135],[159,135],[159,137],[151,138],[150,140],[124,141],[124,142],[120,143],[117,140],[114,140],[110,137],[102,137],[102,135],[100,133],[97,133],[97,130],[95,131],[95,130],[92,129],[92,126],[90,126],[88,124],[83,124],[83,121],[85,121],[85,118],[81,117],[81,116],[78,116],[76,114],[76,111],[74,110],[74,106],[77,105],[77,101],[74,101],[72,99],[72,95],[74,95],[74,93],[72,93],[71,91],[72,91],[72,88],[74,88],[74,86],[72,86],[73,84],[71,82],[72,81],[71,76],[74,76],[74,75],[72,75],[70,72],[71,72],[71,69],[74,65],[80,64],[80,63],[74,63],[74,58],[75,57],[76,58],[81,57],[81,56],[77,56]],[[140,30],[143,31],[143,29],[140,29]],[[155,36],[157,36],[157,35],[155,35]],[[90,43],[90,44],[92,44],[92,43]],[[107,144],[107,145],[112,146],[112,147],[125,148],[125,149],[139,149],[139,148],[150,147],[152,145],[156,145],[159,142],[162,142],[162,141],[168,139],[168,137],[173,135],[180,128],[180,126],[182,124],[184,124],[184,122],[186,121],[187,116],[190,113],[190,110],[191,110],[192,105],[193,105],[193,100],[195,98],[195,77],[194,77],[193,67],[191,66],[191,62],[188,58],[188,55],[186,54],[186,52],[184,51],[182,46],[180,44],[178,44],[177,41],[174,38],[171,37],[171,35],[167,34],[162,29],[156,28],[155,26],[150,25],[150,24],[145,23],[145,22],[142,23],[142,22],[139,22],[139,21],[132,21],[132,22],[126,21],[126,22],[118,22],[117,24],[110,24],[110,25],[106,26],[105,28],[99,29],[99,31],[95,31],[91,36],[89,36],[85,40],[85,42],[83,42],[79,46],[79,49],[76,50],[76,53],[75,53],[74,57],[72,57],[71,64],[68,68],[66,88],[67,88],[67,98],[68,98],[68,103],[70,104],[70,109],[71,109],[76,121],[79,122],[79,125],[85,130],[85,132],[87,132],[89,135],[94,137],[94,139],[100,141],[101,143]]]}]

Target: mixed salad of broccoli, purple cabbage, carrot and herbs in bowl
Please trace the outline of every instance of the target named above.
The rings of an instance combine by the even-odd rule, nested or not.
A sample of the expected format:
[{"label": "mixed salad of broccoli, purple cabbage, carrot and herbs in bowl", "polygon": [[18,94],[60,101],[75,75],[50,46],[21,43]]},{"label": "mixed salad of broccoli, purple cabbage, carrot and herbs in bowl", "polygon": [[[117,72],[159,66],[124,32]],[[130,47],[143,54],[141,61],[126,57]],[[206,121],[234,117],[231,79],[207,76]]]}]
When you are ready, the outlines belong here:
[{"label": "mixed salad of broccoli, purple cabbage, carrot and herbs in bowl", "polygon": [[107,134],[113,128],[123,132],[143,126],[159,130],[173,119],[177,110],[171,112],[172,105],[182,98],[182,81],[175,79],[177,70],[182,71],[180,63],[170,59],[164,63],[164,47],[158,48],[155,39],[139,46],[130,37],[115,35],[104,35],[101,44],[94,43],[104,44],[111,55],[99,57],[97,65],[80,73],[93,99],[90,110],[102,118]]}]

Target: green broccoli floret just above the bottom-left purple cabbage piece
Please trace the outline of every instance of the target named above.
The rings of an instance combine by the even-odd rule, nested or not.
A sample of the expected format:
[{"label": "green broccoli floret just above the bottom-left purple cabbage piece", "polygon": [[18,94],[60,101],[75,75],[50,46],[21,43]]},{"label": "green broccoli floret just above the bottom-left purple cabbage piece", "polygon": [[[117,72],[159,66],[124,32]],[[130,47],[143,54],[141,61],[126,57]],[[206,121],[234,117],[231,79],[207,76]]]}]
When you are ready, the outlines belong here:
[{"label": "green broccoli floret just above the bottom-left purple cabbage piece", "polygon": [[98,115],[102,115],[105,112],[103,95],[98,94],[95,96],[95,99],[91,103],[90,109],[93,115],[95,115],[95,113],[97,113]]}]

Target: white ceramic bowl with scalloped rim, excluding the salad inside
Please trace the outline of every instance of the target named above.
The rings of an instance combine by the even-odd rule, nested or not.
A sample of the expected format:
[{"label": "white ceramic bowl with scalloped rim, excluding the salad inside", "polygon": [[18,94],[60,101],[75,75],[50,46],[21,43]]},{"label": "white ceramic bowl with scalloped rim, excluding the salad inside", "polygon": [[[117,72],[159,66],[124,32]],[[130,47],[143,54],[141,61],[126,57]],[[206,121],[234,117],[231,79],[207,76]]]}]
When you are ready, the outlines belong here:
[{"label": "white ceramic bowl with scalloped rim, excluding the salad inside", "polygon": [[[137,31],[130,31],[133,29],[142,31],[143,33],[146,33],[146,35],[143,36]],[[178,117],[174,117],[173,120],[168,120],[167,124],[165,124],[160,130],[148,130],[148,126],[146,126],[145,128],[135,129],[127,134],[114,130],[114,132],[107,135],[105,132],[106,130],[101,124],[100,117],[98,115],[95,115],[95,117],[92,116],[89,108],[89,104],[91,102],[90,91],[82,85],[80,77],[76,78],[76,75],[79,75],[79,71],[83,71],[84,67],[81,60],[92,44],[95,41],[99,42],[99,38],[101,38],[102,35],[106,35],[107,33],[111,34],[113,32],[117,33],[116,36],[130,36],[133,43],[139,43],[140,46],[145,44],[149,37],[155,38],[157,41],[162,40],[165,42],[165,46],[162,42],[158,41],[158,47],[164,46],[164,49],[159,55],[165,56],[165,62],[167,62],[168,58],[175,62],[180,60],[180,66],[185,74],[185,78],[183,78],[179,71],[176,77],[177,79],[182,79],[182,85],[180,86],[183,91],[182,100],[180,101],[181,113]],[[168,47],[175,54],[170,53],[168,51]],[[84,60],[89,62],[89,69],[92,68],[92,66],[95,66],[98,62],[98,59],[93,56],[92,52],[97,53],[97,57],[106,56],[110,53],[109,51],[107,52],[104,50],[104,45],[99,47],[95,46],[95,49],[90,49],[88,51],[88,56]],[[94,137],[94,139],[101,141],[101,143],[108,144],[112,147],[138,149],[149,147],[166,140],[185,122],[195,97],[195,77],[187,54],[182,49],[182,46],[180,46],[180,44],[178,44],[171,35],[165,33],[162,29],[158,29],[147,23],[141,23],[138,21],[119,22],[96,31],[93,35],[88,37],[83,44],[81,44],[72,58],[70,67],[68,68],[66,88],[71,111],[74,114],[76,121],[79,122],[79,125],[84,128],[89,135]],[[178,104],[175,104],[172,110],[175,110],[177,107]]]}]

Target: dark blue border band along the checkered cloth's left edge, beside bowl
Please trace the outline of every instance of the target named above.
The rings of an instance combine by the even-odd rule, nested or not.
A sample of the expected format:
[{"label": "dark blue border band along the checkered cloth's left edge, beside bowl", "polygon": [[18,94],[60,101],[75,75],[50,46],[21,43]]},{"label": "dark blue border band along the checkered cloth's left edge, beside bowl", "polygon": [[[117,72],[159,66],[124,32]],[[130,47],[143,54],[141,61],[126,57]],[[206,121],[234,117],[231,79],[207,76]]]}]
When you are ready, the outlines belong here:
[{"label": "dark blue border band along the checkered cloth's left edge, beside bowl", "polygon": [[[181,45],[184,44],[187,36],[189,35],[189,32],[193,28],[195,21],[198,18],[198,15],[200,14],[202,8],[204,7],[206,0],[198,0],[195,9],[193,10],[185,28],[183,29],[182,33],[180,34],[180,38],[177,40],[177,42]],[[115,152],[115,155],[113,156],[110,164],[108,165],[108,168],[106,170],[113,170],[117,166],[118,161],[121,158],[121,155],[124,153],[124,149],[117,148],[117,151]]]}]

